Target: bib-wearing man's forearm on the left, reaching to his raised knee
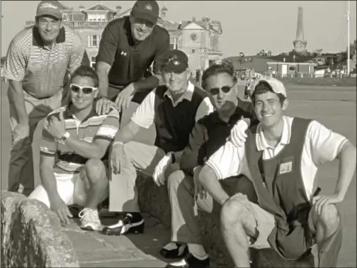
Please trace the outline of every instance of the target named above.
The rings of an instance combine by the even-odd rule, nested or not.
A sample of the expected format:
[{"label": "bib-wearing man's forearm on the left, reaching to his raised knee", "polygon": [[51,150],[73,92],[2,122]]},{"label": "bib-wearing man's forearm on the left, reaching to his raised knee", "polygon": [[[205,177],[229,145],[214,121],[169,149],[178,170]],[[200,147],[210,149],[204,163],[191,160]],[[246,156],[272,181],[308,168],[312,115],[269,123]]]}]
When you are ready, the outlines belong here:
[{"label": "bib-wearing man's forearm on the left, reaching to his raised knee", "polygon": [[210,167],[204,166],[198,176],[198,179],[205,191],[208,191],[212,198],[220,203],[220,205],[223,205],[225,201],[229,199],[228,194],[222,188],[219,180],[217,179],[215,172]]}]

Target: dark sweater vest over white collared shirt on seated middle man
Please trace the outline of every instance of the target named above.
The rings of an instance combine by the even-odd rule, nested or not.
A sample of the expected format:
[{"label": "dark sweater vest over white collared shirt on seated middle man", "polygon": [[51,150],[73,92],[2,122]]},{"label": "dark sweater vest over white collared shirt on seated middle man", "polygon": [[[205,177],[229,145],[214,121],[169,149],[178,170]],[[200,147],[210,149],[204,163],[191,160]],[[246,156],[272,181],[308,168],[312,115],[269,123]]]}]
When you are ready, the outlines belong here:
[{"label": "dark sweater vest over white collared shirt on seated middle man", "polygon": [[195,86],[191,101],[183,99],[175,107],[171,99],[164,96],[166,86],[158,86],[155,96],[155,145],[165,152],[177,152],[188,145],[188,138],[196,123],[198,106],[207,96],[203,89]]}]

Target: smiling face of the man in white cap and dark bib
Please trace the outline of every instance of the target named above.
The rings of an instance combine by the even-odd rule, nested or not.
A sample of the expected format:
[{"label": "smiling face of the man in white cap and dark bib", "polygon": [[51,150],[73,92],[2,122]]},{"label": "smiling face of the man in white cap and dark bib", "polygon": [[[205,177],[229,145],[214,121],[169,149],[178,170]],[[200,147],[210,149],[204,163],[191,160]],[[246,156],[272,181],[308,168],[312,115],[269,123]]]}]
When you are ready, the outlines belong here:
[{"label": "smiling face of the man in white cap and dark bib", "polygon": [[256,94],[254,97],[254,110],[256,116],[265,128],[273,128],[283,120],[283,111],[288,107],[288,100],[281,104],[278,95],[272,91]]}]

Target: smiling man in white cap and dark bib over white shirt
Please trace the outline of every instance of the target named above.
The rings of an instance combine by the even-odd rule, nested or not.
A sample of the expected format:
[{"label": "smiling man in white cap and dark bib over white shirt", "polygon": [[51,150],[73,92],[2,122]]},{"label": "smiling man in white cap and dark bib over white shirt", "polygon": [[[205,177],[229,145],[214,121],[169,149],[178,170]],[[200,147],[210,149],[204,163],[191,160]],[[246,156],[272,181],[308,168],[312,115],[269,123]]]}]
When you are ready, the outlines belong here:
[{"label": "smiling man in white cap and dark bib over white shirt", "polygon": [[[247,130],[245,142],[231,137],[200,172],[199,182],[223,203],[221,228],[235,267],[250,267],[249,247],[273,248],[284,259],[309,254],[316,243],[318,267],[336,267],[342,242],[336,204],[344,200],[356,171],[356,147],[344,136],[305,118],[283,116],[288,107],[282,82],[256,81],[251,101],[259,125]],[[233,132],[242,131],[234,127]],[[339,159],[333,194],[313,191],[321,164]],[[236,176],[244,167],[258,196],[229,197],[217,180]]]}]

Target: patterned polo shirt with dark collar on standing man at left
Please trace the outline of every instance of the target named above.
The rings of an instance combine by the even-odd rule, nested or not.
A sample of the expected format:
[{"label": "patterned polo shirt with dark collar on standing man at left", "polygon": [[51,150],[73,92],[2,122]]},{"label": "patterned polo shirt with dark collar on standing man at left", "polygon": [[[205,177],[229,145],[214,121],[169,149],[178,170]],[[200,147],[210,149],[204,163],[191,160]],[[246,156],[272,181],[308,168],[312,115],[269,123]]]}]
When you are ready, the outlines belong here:
[{"label": "patterned polo shirt with dark collar on standing man at left", "polygon": [[7,79],[21,81],[23,89],[35,98],[54,96],[84,57],[84,46],[79,35],[67,26],[60,29],[55,45],[43,45],[36,26],[21,30],[11,40],[4,68]]}]

